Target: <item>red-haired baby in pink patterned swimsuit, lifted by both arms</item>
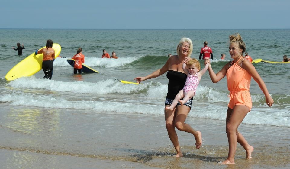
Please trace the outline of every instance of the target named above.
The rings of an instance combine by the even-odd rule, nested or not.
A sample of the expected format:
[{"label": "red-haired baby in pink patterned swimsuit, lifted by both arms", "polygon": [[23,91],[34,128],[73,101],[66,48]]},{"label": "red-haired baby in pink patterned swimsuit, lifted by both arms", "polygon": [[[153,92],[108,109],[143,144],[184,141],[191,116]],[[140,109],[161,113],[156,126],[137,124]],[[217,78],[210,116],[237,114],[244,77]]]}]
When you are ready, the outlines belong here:
[{"label": "red-haired baby in pink patterned swimsuit, lifted by both arms", "polygon": [[[188,69],[186,69],[186,63]],[[178,92],[175,96],[174,100],[172,101],[169,107],[165,107],[165,109],[173,110],[174,107],[180,102],[181,105],[186,103],[190,98],[195,95],[196,88],[199,84],[201,76],[205,74],[206,70],[208,69],[209,64],[205,65],[200,72],[200,63],[197,59],[193,58],[188,62],[188,58],[186,57],[184,63],[182,65],[182,69],[184,73],[187,75],[184,87],[182,90]],[[183,100],[181,100],[183,98]]]}]

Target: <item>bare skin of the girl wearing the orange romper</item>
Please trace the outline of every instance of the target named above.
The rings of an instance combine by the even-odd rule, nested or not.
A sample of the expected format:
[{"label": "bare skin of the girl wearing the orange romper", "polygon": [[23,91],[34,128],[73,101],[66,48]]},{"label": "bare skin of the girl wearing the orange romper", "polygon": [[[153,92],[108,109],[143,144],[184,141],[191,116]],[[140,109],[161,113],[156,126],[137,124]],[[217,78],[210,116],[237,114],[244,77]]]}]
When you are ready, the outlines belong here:
[{"label": "bare skin of the girl wearing the orange romper", "polygon": [[[234,59],[234,62],[236,63],[242,55],[242,49],[239,48],[239,45],[237,43],[231,43],[229,47],[229,52],[231,58]],[[255,67],[250,63],[247,59],[241,59],[237,65],[241,65],[242,68],[245,69],[252,78],[258,83],[259,87],[263,91],[265,97],[266,97],[266,104],[271,107],[274,103],[272,97],[270,96],[266,85],[258,72],[256,71]],[[209,59],[204,60],[204,63],[210,63]],[[212,70],[211,66],[208,68],[209,75],[211,77],[211,80],[213,83],[217,83],[220,81],[224,76],[226,76],[227,69],[230,66],[230,63],[227,63],[224,65],[224,67],[215,74]],[[252,152],[254,150],[253,146],[250,146],[247,142],[247,140],[243,137],[243,135],[238,131],[238,127],[243,121],[243,119],[246,117],[247,113],[250,112],[250,109],[245,105],[236,105],[233,109],[228,108],[227,109],[227,119],[226,119],[226,132],[229,142],[229,154],[225,161],[223,161],[221,164],[234,164],[234,156],[237,149],[237,142],[240,143],[241,146],[246,150],[246,158],[252,159]]]}]

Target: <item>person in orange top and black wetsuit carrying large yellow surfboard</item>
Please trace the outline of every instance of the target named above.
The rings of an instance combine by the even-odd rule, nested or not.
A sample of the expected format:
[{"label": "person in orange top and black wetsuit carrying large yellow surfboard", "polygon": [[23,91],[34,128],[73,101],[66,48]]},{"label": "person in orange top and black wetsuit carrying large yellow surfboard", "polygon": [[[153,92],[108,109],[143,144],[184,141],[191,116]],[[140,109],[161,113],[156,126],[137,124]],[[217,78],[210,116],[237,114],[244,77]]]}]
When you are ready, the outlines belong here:
[{"label": "person in orange top and black wetsuit carrying large yellow surfboard", "polygon": [[46,42],[46,48],[42,48],[39,51],[35,51],[35,55],[37,54],[43,54],[43,60],[42,60],[42,69],[44,72],[43,78],[52,78],[53,74],[53,61],[55,57],[55,51],[52,48],[52,40],[48,39]]}]

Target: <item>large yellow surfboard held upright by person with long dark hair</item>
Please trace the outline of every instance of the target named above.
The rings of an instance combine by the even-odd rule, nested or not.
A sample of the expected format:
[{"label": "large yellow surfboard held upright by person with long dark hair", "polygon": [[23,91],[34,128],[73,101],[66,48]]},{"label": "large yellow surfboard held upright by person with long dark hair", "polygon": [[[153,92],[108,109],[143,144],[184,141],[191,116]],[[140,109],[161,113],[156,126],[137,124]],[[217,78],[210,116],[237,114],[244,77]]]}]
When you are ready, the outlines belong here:
[{"label": "large yellow surfboard held upright by person with long dark hair", "polygon": [[[45,46],[43,48],[46,48]],[[58,57],[61,51],[59,44],[52,44],[52,48],[55,51],[55,59]],[[42,49],[42,48],[40,48]],[[39,49],[39,50],[40,50]],[[43,54],[35,55],[33,52],[31,55],[27,56],[25,59],[17,63],[9,72],[5,75],[6,80],[15,80],[20,77],[31,76],[42,69],[42,59]]]}]

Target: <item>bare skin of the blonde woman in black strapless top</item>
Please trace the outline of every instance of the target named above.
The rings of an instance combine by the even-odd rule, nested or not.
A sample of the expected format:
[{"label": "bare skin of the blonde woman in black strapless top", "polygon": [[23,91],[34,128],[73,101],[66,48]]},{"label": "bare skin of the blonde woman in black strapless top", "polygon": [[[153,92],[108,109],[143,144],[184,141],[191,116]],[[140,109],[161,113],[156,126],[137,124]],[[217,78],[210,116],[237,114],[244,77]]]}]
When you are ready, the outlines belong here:
[{"label": "bare skin of the blonde woman in black strapless top", "polygon": [[[163,75],[169,70],[173,71],[178,71],[184,73],[182,69],[182,64],[188,55],[188,42],[182,43],[180,50],[179,50],[179,56],[174,55],[169,57],[165,65],[161,68],[156,70],[155,72],[151,73],[150,75],[147,75],[145,77],[137,77],[134,78],[137,83],[140,83],[141,81],[151,79],[151,78],[156,78],[160,75]],[[191,60],[191,58],[190,58]],[[165,107],[169,107],[170,105],[166,105]],[[168,136],[176,149],[176,155],[175,157],[182,157],[182,151],[180,149],[179,141],[178,141],[178,136],[176,134],[175,128],[177,128],[180,131],[185,131],[188,133],[191,133],[195,137],[195,146],[196,148],[200,148],[202,140],[201,140],[201,132],[200,131],[195,131],[189,124],[185,123],[185,119],[190,111],[190,108],[188,106],[181,106],[178,105],[176,106],[173,110],[164,110],[164,116],[165,116],[165,124],[166,124],[166,129]]]}]

